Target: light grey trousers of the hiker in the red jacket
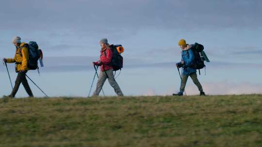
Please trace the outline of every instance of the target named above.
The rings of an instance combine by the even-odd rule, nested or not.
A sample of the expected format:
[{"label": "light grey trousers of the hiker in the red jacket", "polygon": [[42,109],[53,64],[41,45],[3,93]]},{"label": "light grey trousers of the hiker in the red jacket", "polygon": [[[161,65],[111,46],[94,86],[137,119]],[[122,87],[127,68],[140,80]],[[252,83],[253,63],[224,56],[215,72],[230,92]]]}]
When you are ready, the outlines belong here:
[{"label": "light grey trousers of the hiker in the red jacket", "polygon": [[123,96],[123,93],[120,89],[120,87],[118,86],[118,84],[116,83],[115,81],[115,76],[114,76],[114,73],[113,73],[113,69],[112,70],[107,70],[107,71],[100,71],[99,73],[99,77],[98,77],[98,83],[97,83],[97,88],[96,90],[94,91],[94,94],[93,96],[98,96],[106,79],[107,79],[107,76],[106,76],[106,73],[108,75],[108,82],[109,84],[115,89],[115,93],[118,95],[118,96]]}]

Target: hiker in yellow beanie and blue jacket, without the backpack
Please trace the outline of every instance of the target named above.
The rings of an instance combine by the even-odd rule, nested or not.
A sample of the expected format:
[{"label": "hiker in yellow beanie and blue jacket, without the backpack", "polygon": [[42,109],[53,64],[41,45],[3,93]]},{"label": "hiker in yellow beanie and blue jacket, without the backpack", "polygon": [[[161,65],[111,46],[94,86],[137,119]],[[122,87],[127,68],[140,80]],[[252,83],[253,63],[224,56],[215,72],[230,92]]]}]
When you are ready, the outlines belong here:
[{"label": "hiker in yellow beanie and blue jacket, without the backpack", "polygon": [[182,72],[182,79],[180,85],[180,92],[173,95],[178,95],[178,96],[183,95],[188,76],[190,76],[193,82],[196,84],[198,90],[200,91],[200,95],[205,95],[205,92],[203,91],[203,88],[197,79],[197,70],[191,67],[194,64],[194,53],[191,49],[192,45],[186,44],[186,41],[184,39],[181,39],[179,41],[179,46],[182,50],[181,51],[182,60],[178,62],[176,66],[183,67],[183,72]]}]

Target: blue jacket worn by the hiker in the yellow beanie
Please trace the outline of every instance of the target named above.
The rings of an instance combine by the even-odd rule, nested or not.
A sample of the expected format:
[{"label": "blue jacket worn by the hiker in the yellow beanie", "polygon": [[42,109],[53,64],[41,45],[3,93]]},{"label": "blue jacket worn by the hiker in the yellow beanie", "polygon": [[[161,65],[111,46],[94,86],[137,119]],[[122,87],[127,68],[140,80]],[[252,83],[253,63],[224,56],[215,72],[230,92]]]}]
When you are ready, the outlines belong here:
[{"label": "blue jacket worn by the hiker in the yellow beanie", "polygon": [[182,74],[184,75],[189,75],[191,73],[197,73],[196,69],[190,67],[193,64],[193,61],[195,58],[194,53],[191,48],[189,48],[188,50],[182,50],[181,56],[182,56],[182,60],[184,61],[184,64],[182,65],[181,62],[178,63],[179,67],[183,66]]}]

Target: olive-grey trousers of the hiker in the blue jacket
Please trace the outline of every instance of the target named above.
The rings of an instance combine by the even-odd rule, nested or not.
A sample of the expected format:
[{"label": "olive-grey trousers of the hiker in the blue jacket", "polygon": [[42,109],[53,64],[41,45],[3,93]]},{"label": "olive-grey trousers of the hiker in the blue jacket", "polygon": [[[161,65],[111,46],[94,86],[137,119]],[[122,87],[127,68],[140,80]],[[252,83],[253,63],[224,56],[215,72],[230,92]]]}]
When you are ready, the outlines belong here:
[{"label": "olive-grey trousers of the hiker in the blue jacket", "polygon": [[198,81],[197,79],[197,73],[191,73],[189,75],[182,75],[182,80],[181,80],[181,86],[180,86],[180,92],[184,92],[185,90],[185,85],[186,85],[186,81],[187,81],[187,78],[188,76],[191,77],[191,79],[193,80],[193,82],[197,85],[197,88],[200,92],[203,92],[203,88],[200,84],[200,82]]}]

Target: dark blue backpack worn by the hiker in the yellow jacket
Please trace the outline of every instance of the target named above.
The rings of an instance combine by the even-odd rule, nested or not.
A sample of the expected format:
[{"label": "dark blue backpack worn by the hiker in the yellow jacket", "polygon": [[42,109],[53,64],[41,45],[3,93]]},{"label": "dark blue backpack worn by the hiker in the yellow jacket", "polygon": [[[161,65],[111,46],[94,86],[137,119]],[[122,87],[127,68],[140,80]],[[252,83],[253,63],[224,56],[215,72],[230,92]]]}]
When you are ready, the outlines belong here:
[{"label": "dark blue backpack worn by the hiker in the yellow jacket", "polygon": [[[27,62],[27,66],[30,70],[38,70],[38,59],[43,59],[43,53],[41,49],[38,49],[38,45],[36,42],[29,42],[25,44],[23,47],[28,49],[29,59]],[[22,49],[22,48],[21,48]],[[42,66],[42,65],[41,65]]]}]

